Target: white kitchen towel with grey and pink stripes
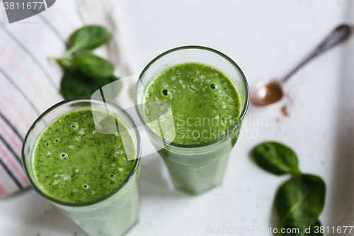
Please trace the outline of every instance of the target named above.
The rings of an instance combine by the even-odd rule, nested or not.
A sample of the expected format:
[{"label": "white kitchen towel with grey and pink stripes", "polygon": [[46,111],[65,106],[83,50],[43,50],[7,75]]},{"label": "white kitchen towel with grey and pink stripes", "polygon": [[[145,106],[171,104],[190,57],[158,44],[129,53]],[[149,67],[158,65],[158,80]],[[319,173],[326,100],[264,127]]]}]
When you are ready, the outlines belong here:
[{"label": "white kitchen towel with grey and pink stripes", "polygon": [[118,33],[116,1],[60,0],[17,23],[8,23],[0,2],[0,197],[29,186],[21,164],[23,138],[40,113],[61,101],[62,70],[47,57],[59,57],[77,28],[99,24],[113,33],[98,54],[130,75]]}]

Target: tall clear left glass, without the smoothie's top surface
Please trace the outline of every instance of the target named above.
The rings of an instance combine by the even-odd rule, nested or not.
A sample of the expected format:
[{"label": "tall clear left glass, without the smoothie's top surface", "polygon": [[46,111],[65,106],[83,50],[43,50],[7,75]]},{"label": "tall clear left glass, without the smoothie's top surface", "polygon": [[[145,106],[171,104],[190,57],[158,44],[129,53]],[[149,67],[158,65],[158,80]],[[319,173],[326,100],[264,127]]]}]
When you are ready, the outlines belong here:
[{"label": "tall clear left glass, without the smoothie's top surface", "polygon": [[[47,196],[36,181],[33,171],[35,143],[42,131],[53,120],[64,113],[87,108],[93,111],[105,111],[117,117],[125,125],[125,131],[129,132],[132,137],[137,156],[132,172],[127,176],[127,179],[108,195],[88,203],[66,203]],[[33,189],[52,206],[74,220],[89,235],[119,236],[124,235],[137,223],[139,215],[140,146],[140,137],[134,121],[115,103],[89,97],[69,99],[52,106],[33,123],[23,143],[23,169]]]}]

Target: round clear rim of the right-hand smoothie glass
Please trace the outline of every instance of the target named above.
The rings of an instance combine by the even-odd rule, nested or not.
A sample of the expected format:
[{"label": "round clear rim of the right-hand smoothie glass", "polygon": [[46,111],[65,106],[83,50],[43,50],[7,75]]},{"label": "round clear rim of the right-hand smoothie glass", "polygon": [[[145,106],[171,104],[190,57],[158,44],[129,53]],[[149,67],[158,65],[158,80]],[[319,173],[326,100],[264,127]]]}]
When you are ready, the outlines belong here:
[{"label": "round clear rim of the right-hand smoothie glass", "polygon": [[[203,143],[196,144],[196,145],[182,145],[182,144],[179,144],[179,143],[176,143],[176,142],[170,142],[169,140],[165,140],[164,137],[156,135],[156,133],[154,133],[154,131],[152,131],[149,128],[147,123],[145,123],[144,118],[142,117],[142,114],[139,111],[139,104],[137,102],[137,90],[138,90],[138,87],[142,84],[141,83],[142,78],[144,77],[144,74],[147,72],[147,70],[152,66],[152,64],[154,64],[161,57],[164,57],[165,55],[168,55],[171,52],[176,52],[176,51],[179,51],[179,50],[189,50],[189,49],[206,50],[206,51],[214,52],[215,54],[223,57],[230,64],[232,64],[232,66],[234,66],[234,68],[236,69],[237,72],[239,72],[239,74],[241,75],[242,84],[244,85],[244,89],[246,90],[244,108],[242,109],[239,118],[236,120],[235,125],[232,126],[232,128],[229,128],[229,130],[227,130],[225,135],[222,135],[221,137],[217,137],[215,140],[211,140],[209,142],[203,142]],[[210,66],[212,66],[212,65],[210,65]],[[140,73],[139,79],[137,80],[137,83],[138,84],[135,87],[134,103],[135,103],[135,109],[137,111],[137,116],[139,117],[140,122],[144,126],[145,130],[147,130],[147,133],[149,133],[150,135],[152,135],[153,137],[155,137],[158,140],[163,140],[164,143],[169,143],[169,145],[171,145],[173,147],[183,147],[183,148],[207,147],[207,146],[210,146],[210,145],[214,145],[215,143],[222,142],[223,140],[226,140],[227,137],[229,137],[230,133],[231,134],[234,133],[234,130],[236,130],[236,128],[239,125],[241,125],[240,120],[244,119],[244,116],[246,116],[247,109],[249,108],[249,96],[250,96],[250,94],[249,94],[249,84],[247,82],[246,76],[244,75],[244,72],[242,72],[242,70],[239,67],[239,65],[236,64],[236,62],[234,62],[234,60],[232,60],[230,57],[228,57],[224,53],[219,52],[218,50],[212,49],[210,47],[199,46],[199,45],[186,45],[186,46],[181,46],[181,47],[175,47],[173,49],[167,50],[166,52],[162,52],[160,55],[155,57],[151,62],[149,62],[149,64],[147,64],[147,66],[142,70],[142,73]]]}]

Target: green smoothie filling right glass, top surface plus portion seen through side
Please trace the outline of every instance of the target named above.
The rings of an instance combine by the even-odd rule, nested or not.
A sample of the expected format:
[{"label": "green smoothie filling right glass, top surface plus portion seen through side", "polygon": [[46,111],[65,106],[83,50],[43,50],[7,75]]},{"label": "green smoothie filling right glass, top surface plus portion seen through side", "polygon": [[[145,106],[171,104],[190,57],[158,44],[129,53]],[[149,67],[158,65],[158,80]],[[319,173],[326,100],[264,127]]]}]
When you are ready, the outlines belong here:
[{"label": "green smoothie filling right glass, top surface plus portion seen through side", "polygon": [[[175,143],[153,137],[176,188],[199,194],[219,185],[241,128],[239,124],[234,129],[241,100],[230,79],[205,64],[177,64],[154,78],[145,101],[149,128]],[[171,110],[166,111],[167,103]],[[225,133],[227,138],[218,141]],[[190,147],[212,140],[217,142]]]}]

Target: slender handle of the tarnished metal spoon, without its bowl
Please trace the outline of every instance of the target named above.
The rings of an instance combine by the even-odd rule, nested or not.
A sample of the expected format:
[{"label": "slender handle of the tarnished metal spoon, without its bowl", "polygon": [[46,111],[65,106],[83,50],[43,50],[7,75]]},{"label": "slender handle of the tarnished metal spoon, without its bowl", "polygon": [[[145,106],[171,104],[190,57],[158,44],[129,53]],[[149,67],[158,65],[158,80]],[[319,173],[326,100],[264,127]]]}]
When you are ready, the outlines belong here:
[{"label": "slender handle of the tarnished metal spoon, without its bowl", "polygon": [[348,26],[346,24],[338,26],[337,28],[332,30],[332,32],[327,35],[326,38],[324,38],[324,40],[315,48],[315,50],[310,53],[310,55],[308,55],[297,67],[295,67],[295,69],[292,69],[289,74],[282,78],[281,82],[286,82],[287,79],[292,77],[292,75],[295,74],[305,64],[307,64],[307,62],[311,61],[312,59],[321,55],[323,52],[326,52],[332,47],[335,47],[336,45],[344,42],[350,37],[351,33],[351,26]]}]

